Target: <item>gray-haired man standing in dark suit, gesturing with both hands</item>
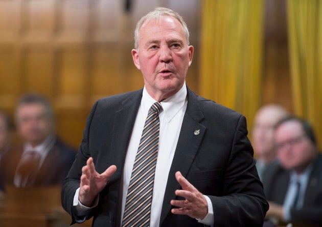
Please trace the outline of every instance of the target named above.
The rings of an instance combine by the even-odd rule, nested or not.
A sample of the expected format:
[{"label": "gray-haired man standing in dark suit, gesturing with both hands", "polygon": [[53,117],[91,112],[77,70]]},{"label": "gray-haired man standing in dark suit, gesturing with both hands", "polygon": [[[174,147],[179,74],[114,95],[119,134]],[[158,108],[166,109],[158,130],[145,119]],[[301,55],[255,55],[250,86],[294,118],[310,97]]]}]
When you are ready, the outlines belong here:
[{"label": "gray-haired man standing in dark suit, gesturing with both hands", "polygon": [[145,87],[91,110],[62,187],[73,223],[94,216],[93,226],[262,226],[268,205],[246,120],[186,86],[186,23],[156,8],[137,23],[134,46]]}]

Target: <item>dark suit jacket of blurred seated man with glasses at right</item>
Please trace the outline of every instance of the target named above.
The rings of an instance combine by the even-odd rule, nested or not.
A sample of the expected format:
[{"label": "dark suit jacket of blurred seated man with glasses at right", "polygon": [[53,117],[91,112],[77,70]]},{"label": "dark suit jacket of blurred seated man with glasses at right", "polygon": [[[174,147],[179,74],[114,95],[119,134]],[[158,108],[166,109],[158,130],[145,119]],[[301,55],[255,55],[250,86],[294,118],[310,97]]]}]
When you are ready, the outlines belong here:
[{"label": "dark suit jacket of blurred seated man with glasses at right", "polygon": [[[290,180],[290,172],[280,164],[269,166],[264,191],[268,201],[283,205]],[[291,209],[291,222],[322,226],[322,155],[318,155],[305,191],[303,208]]]}]

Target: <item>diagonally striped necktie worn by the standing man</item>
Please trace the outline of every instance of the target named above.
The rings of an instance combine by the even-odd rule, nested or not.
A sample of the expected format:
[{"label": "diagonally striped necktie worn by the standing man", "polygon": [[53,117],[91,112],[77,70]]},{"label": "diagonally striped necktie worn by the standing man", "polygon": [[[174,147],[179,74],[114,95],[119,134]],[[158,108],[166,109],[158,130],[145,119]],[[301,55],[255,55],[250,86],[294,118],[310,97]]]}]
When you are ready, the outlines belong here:
[{"label": "diagonally striped necktie worn by the standing man", "polygon": [[155,102],[149,109],[133,164],[122,226],[148,226],[150,224],[161,110],[162,105],[158,102]]}]

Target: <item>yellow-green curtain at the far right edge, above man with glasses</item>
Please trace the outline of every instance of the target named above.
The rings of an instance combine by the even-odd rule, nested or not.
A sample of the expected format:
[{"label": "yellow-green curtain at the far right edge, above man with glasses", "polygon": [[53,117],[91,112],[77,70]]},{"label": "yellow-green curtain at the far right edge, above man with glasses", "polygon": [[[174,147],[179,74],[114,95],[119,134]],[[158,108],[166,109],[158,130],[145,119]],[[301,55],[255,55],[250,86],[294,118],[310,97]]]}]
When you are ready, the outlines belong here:
[{"label": "yellow-green curtain at the far right edge, above man with glasses", "polygon": [[294,111],[310,121],[322,143],[322,3],[289,0],[287,13]]}]

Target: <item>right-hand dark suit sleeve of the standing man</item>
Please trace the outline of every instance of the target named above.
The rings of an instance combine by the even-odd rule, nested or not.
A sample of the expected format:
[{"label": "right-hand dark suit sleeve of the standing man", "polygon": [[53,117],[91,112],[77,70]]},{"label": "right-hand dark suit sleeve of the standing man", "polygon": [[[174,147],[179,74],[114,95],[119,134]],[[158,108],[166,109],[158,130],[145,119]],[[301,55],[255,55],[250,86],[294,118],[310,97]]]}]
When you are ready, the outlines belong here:
[{"label": "right-hand dark suit sleeve of the standing man", "polygon": [[209,195],[214,226],[263,226],[268,210],[253,150],[247,138],[246,119],[239,118],[225,169],[223,196]]}]

